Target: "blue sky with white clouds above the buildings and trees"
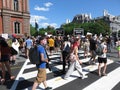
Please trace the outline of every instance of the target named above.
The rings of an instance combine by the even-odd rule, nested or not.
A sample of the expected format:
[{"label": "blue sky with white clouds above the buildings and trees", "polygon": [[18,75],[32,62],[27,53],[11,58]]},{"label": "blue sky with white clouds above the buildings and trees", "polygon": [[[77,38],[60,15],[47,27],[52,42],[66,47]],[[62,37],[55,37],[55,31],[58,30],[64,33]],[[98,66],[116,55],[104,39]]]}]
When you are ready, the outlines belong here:
[{"label": "blue sky with white clouds above the buildings and trees", "polygon": [[30,23],[34,26],[35,20],[39,28],[48,25],[55,28],[70,21],[78,14],[91,14],[92,18],[103,16],[103,10],[118,16],[120,15],[120,0],[29,0]]}]

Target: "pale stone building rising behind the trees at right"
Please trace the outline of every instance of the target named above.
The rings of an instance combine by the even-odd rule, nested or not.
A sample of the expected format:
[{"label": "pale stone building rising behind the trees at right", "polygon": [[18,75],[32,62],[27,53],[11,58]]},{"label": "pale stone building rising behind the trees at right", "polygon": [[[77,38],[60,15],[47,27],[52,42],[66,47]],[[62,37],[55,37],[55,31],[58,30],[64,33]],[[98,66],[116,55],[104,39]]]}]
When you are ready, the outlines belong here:
[{"label": "pale stone building rising behind the trees at right", "polygon": [[78,14],[74,16],[72,22],[85,23],[85,22],[97,21],[99,19],[103,19],[109,24],[112,33],[118,34],[118,32],[120,31],[120,16],[111,15],[110,13],[108,13],[107,10],[103,11],[103,16],[94,19],[91,18],[91,14]]}]

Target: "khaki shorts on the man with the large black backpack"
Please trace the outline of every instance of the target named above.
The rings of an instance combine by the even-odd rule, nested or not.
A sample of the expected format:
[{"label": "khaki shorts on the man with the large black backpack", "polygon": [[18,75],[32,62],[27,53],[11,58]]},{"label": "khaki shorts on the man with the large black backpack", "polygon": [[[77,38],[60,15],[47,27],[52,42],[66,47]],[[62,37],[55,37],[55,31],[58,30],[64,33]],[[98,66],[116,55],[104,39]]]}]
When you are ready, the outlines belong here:
[{"label": "khaki shorts on the man with the large black backpack", "polygon": [[46,80],[46,69],[39,68],[35,82],[41,83],[45,80]]}]

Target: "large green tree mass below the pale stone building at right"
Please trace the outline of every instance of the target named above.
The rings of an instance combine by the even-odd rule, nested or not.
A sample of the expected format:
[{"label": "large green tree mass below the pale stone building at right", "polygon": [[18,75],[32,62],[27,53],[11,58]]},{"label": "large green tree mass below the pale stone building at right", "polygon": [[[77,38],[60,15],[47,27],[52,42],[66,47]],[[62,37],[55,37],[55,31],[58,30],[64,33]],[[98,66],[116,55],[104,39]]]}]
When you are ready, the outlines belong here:
[{"label": "large green tree mass below the pale stone building at right", "polygon": [[69,23],[62,25],[61,27],[64,29],[65,35],[72,35],[74,28],[83,28],[84,35],[86,35],[87,32],[91,32],[97,35],[99,35],[100,33],[102,33],[103,35],[110,34],[110,27],[108,23],[103,20],[86,23]]}]

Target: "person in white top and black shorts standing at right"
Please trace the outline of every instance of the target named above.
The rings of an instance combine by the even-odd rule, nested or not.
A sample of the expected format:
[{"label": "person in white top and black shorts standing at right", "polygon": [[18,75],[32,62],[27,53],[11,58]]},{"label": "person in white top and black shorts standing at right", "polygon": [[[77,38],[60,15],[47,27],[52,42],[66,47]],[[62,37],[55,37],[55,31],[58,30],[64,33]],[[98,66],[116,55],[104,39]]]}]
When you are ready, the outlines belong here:
[{"label": "person in white top and black shorts standing at right", "polygon": [[[98,55],[98,75],[101,76],[106,76],[106,68],[107,68],[107,45],[106,45],[106,41],[103,41],[101,43],[101,47],[102,47],[102,55]],[[103,68],[103,73],[101,74],[101,64],[104,63],[104,68]]]}]

